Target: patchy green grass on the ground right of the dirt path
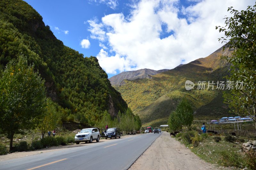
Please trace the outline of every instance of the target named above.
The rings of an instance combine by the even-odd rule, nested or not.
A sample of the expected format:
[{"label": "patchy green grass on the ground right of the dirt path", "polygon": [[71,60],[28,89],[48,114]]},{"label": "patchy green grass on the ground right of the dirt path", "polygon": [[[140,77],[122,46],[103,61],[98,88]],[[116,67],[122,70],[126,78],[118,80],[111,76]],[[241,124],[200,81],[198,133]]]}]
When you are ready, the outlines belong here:
[{"label": "patchy green grass on the ground right of the dirt path", "polygon": [[[195,132],[195,131],[194,131]],[[190,140],[188,140],[190,136]],[[216,142],[218,138],[218,142]],[[220,166],[230,166],[234,169],[244,168],[248,163],[248,158],[241,151],[243,140],[235,138],[234,142],[225,141],[225,136],[206,137],[193,132],[179,133],[176,135],[176,140],[185,144],[193,153],[206,162],[218,164]],[[194,140],[197,141],[195,144]],[[246,139],[248,141],[248,138]],[[200,142],[199,142],[200,141]],[[253,159],[252,159],[253,160]]]}]

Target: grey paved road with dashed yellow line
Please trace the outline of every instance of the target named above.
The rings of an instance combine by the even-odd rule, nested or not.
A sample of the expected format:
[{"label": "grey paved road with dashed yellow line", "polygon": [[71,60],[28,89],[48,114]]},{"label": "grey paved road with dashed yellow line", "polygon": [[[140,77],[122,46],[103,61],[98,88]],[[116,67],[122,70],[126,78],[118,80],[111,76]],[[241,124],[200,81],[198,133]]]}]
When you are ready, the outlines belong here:
[{"label": "grey paved road with dashed yellow line", "polygon": [[128,169],[161,135],[149,133],[0,162],[0,169]]}]

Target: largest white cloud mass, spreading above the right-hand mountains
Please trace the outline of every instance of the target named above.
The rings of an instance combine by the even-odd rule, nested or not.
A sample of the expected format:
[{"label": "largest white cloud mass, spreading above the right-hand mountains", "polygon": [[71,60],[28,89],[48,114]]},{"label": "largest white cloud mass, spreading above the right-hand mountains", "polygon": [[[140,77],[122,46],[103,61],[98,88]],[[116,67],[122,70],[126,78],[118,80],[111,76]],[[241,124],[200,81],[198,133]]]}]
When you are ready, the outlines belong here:
[{"label": "largest white cloud mass, spreading above the right-hand mountains", "polygon": [[114,13],[104,16],[98,24],[95,20],[88,21],[91,38],[100,40],[103,49],[108,46],[115,53],[108,56],[107,49],[101,49],[97,55],[100,66],[107,73],[171,69],[182,62],[206,57],[223,45],[218,38],[224,35],[215,26],[224,26],[228,7],[241,11],[254,5],[253,0],[204,0],[188,7],[179,3],[140,0],[133,4],[128,16]]}]

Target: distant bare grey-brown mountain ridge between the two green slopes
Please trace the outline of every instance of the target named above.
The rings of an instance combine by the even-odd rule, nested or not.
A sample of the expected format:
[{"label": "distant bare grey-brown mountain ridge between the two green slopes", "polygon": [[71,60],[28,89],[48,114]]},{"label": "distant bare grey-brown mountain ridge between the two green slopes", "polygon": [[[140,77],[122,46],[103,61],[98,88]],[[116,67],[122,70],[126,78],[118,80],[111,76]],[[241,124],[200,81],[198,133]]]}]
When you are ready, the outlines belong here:
[{"label": "distant bare grey-brown mountain ridge between the two green slopes", "polygon": [[143,78],[151,79],[152,75],[163,73],[165,71],[168,71],[168,69],[156,71],[156,70],[144,68],[136,71],[122,72],[109,78],[108,80],[112,85],[120,85],[123,80],[135,80],[135,79],[143,79]]}]

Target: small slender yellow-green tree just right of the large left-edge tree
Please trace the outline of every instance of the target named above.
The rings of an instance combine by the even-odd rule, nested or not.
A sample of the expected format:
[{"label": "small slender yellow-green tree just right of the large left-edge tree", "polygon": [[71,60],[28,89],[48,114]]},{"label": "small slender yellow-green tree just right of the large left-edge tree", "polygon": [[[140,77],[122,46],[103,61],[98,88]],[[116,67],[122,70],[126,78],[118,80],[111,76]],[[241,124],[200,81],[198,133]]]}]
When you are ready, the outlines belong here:
[{"label": "small slender yellow-green tree just right of the large left-edge tree", "polygon": [[56,109],[52,104],[52,100],[47,98],[46,106],[44,108],[44,115],[41,120],[39,120],[38,131],[41,133],[42,138],[48,130],[52,130],[56,127]]}]

